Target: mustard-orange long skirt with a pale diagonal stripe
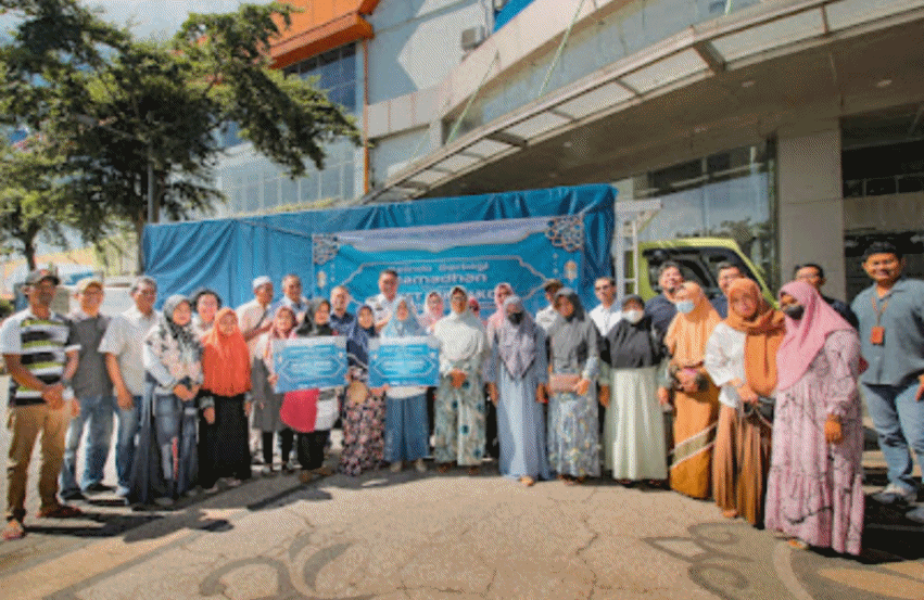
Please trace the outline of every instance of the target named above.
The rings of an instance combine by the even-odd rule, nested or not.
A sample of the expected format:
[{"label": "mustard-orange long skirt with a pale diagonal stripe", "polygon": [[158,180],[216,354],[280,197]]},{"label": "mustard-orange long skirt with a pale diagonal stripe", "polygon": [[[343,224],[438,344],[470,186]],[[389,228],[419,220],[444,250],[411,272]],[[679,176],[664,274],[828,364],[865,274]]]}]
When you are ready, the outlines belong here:
[{"label": "mustard-orange long skirt with a pale diagonal stripe", "polygon": [[712,448],[719,420],[719,388],[712,382],[705,392],[674,392],[674,449],[671,488],[691,498],[708,498],[712,492]]}]

